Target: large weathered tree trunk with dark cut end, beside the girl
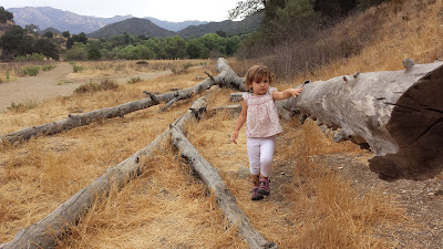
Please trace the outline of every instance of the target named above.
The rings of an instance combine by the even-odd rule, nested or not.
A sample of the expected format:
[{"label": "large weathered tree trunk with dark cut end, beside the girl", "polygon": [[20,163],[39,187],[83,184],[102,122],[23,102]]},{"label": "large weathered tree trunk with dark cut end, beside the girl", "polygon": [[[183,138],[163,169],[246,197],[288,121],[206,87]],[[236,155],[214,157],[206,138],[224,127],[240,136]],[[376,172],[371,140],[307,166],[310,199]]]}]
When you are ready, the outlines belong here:
[{"label": "large weathered tree trunk with dark cut end, beside the girl", "polygon": [[317,81],[279,105],[368,143],[370,168],[382,179],[429,179],[443,168],[443,63],[404,65]]}]

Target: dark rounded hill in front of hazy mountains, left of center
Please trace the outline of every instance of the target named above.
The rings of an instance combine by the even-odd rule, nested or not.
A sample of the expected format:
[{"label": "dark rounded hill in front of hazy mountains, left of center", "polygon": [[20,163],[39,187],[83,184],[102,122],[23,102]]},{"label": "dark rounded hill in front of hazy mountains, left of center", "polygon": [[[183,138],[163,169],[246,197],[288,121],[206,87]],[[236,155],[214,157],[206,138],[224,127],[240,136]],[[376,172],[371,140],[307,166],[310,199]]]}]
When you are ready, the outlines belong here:
[{"label": "dark rounded hill in front of hazy mountains, left of center", "polygon": [[114,35],[121,35],[123,33],[131,35],[145,35],[148,38],[167,38],[175,34],[175,32],[159,28],[150,20],[131,18],[121,22],[105,25],[95,32],[89,33],[87,37],[111,38]]}]

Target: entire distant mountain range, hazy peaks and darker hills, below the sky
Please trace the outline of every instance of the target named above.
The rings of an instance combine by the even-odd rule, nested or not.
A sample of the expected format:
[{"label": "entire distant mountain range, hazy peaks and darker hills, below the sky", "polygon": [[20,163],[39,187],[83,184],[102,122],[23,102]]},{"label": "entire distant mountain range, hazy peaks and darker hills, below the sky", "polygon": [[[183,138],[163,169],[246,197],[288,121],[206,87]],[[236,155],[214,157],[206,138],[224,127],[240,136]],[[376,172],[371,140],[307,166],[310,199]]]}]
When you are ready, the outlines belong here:
[{"label": "entire distant mountain range, hazy peaks and darker hills, below the sky", "polygon": [[95,18],[80,15],[51,7],[10,8],[13,21],[23,27],[35,24],[40,30],[70,31],[71,34],[84,32],[91,38],[110,38],[127,33],[167,38],[179,35],[183,39],[198,38],[205,33],[223,31],[228,35],[250,33],[257,30],[264,14],[256,13],[241,21],[184,21],[168,22],[155,18],[134,18],[133,15],[116,15],[113,18]]}]

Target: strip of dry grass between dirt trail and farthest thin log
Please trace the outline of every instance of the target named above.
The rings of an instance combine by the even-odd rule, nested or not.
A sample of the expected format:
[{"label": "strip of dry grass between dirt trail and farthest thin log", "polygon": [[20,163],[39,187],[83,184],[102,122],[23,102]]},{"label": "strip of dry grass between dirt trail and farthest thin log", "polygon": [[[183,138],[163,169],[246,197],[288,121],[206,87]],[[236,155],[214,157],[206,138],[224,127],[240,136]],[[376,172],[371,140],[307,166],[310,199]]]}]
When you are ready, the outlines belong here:
[{"label": "strip of dry grass between dirt trail and farthest thin log", "polygon": [[[179,61],[179,64],[182,63],[183,62]],[[199,63],[199,61],[196,63]],[[134,62],[132,62],[132,64],[134,64]],[[146,97],[143,91],[168,92],[172,89],[190,87],[200,82],[200,80],[196,79],[197,76],[205,76],[203,71],[208,71],[213,75],[216,75],[214,64],[215,62],[207,62],[207,65],[204,68],[189,69],[187,74],[161,76],[152,81],[121,85],[115,91],[81,95],[74,94],[69,97],[44,101],[39,107],[28,110],[25,113],[7,112],[0,115],[0,134],[63,120],[71,113],[85,113],[97,108],[115,106],[130,101],[136,101]]]}]

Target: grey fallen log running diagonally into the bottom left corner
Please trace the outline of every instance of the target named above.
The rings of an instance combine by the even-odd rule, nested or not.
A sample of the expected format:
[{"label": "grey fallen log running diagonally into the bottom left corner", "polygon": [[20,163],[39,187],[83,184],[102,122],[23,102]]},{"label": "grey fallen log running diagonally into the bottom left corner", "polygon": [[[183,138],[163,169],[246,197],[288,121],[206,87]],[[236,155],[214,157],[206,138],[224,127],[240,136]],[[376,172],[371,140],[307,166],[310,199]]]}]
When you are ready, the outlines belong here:
[{"label": "grey fallen log running diagonally into the bottom left corner", "polygon": [[169,136],[168,129],[158,135],[146,147],[134,153],[120,164],[84,187],[44,219],[17,232],[12,241],[0,245],[2,249],[12,248],[53,248],[58,239],[68,234],[70,227],[76,225],[99,198],[106,196],[113,186],[121,188],[131,179],[141,175],[143,164],[154,151]]}]

